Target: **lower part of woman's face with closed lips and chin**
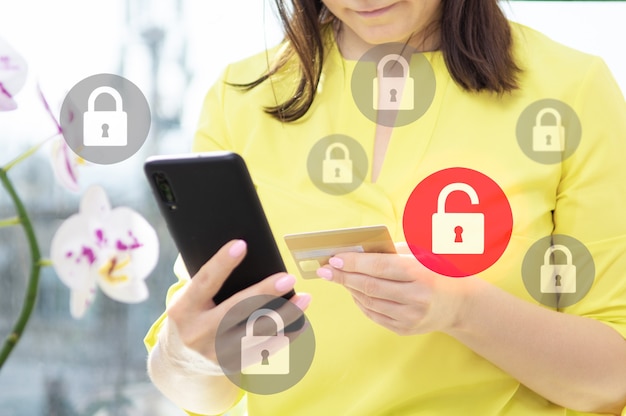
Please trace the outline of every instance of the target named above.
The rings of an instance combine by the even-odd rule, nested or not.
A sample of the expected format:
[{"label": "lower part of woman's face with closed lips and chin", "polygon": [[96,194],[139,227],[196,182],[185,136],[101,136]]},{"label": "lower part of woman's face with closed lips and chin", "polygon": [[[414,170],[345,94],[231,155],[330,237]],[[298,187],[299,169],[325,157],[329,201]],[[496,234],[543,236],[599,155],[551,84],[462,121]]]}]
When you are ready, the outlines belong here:
[{"label": "lower part of woman's face with closed lips and chin", "polygon": [[[322,0],[341,20],[346,41],[379,45],[419,37],[438,15],[442,0]],[[459,0],[452,0],[459,1]],[[411,39],[418,46],[424,39]],[[421,45],[420,49],[424,46]]]}]

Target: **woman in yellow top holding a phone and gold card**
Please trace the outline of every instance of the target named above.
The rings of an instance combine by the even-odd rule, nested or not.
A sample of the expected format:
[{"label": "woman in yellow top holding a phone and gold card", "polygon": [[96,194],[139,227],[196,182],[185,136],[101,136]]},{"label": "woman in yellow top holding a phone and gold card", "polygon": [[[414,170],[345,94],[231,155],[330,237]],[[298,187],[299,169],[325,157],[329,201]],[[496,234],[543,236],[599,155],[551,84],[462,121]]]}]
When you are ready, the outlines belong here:
[{"label": "woman in yellow top holding a phone and gold card", "polygon": [[[496,0],[277,5],[283,46],[227,69],[207,95],[194,150],[242,154],[279,243],[288,233],[379,223],[403,241],[411,191],[449,167],[500,185],[510,242],[480,277],[441,276],[412,256],[342,253],[317,271],[323,279],[270,276],[215,307],[207,299],[245,256],[244,242],[230,242],[173,287],[146,338],[154,383],[188,411],[227,411],[242,392],[215,364],[221,317],[247,296],[295,286],[315,360],[292,388],[249,394],[251,416],[623,412],[626,104],[604,63],[507,22]],[[356,60],[397,42],[424,52],[436,80],[428,109],[402,126],[368,120],[350,89]],[[582,126],[560,163],[533,160],[516,140],[520,115],[542,99],[566,103]],[[306,166],[315,143],[333,134],[356,138],[371,161],[343,195],[323,192]],[[589,293],[559,310],[535,301],[520,272],[532,244],[551,234],[580,240],[596,265]]]}]

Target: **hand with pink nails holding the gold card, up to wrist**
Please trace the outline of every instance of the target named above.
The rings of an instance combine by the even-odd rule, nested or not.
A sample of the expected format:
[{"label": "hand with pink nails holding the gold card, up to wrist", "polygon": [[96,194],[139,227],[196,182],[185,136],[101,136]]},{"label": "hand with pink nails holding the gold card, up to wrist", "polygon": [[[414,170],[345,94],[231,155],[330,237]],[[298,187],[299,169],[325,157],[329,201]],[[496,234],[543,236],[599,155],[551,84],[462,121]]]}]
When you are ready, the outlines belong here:
[{"label": "hand with pink nails holding the gold card, up to wrist", "polygon": [[318,275],[343,285],[363,313],[399,335],[453,328],[472,278],[453,279],[412,255],[341,253]]}]

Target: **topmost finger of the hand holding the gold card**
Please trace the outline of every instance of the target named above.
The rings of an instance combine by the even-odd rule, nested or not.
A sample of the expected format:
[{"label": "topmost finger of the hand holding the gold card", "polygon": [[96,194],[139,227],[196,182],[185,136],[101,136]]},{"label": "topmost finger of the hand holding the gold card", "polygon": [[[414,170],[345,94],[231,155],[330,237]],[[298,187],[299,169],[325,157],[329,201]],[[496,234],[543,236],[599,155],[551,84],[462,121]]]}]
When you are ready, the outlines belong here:
[{"label": "topmost finger of the hand holding the gold card", "polygon": [[332,272],[328,280],[335,280],[339,276],[335,271],[341,270],[387,280],[412,281],[415,280],[413,273],[417,261],[397,254],[340,253],[331,257],[328,263]]}]

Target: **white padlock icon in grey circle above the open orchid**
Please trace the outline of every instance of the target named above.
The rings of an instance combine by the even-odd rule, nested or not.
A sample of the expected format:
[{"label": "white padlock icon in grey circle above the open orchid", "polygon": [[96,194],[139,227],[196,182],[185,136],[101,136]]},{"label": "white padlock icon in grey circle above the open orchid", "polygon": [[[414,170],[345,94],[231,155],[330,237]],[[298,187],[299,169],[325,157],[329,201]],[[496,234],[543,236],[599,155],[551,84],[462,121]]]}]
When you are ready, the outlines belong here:
[{"label": "white padlock icon in grey circle above the open orchid", "polygon": [[[96,98],[109,94],[115,100],[115,111],[97,111]],[[122,108],[122,96],[112,87],[98,87],[89,94],[87,112],[83,114],[83,144],[85,146],[126,146],[128,125]]]}]

